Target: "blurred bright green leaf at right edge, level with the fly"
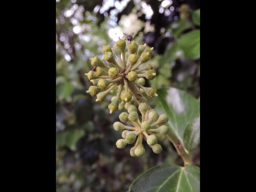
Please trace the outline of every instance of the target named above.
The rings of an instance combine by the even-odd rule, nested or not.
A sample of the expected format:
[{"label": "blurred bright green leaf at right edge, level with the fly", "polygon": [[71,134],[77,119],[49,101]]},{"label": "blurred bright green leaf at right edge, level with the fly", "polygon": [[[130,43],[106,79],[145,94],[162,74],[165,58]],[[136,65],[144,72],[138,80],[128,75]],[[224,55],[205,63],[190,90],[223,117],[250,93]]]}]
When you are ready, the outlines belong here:
[{"label": "blurred bright green leaf at right edge, level with the fly", "polygon": [[200,29],[191,31],[186,35],[183,35],[178,45],[184,52],[184,58],[186,59],[198,59],[200,58]]}]

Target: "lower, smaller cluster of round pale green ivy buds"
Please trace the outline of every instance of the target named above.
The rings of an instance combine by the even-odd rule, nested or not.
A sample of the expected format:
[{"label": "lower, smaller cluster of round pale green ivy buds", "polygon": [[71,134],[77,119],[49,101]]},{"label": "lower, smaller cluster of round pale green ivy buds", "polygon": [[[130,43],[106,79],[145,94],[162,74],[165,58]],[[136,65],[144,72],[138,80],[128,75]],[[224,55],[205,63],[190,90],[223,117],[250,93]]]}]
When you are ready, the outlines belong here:
[{"label": "lower, smaller cluster of round pale green ivy buds", "polygon": [[[137,141],[134,147],[131,148],[130,154],[132,157],[143,156],[145,154],[145,148],[142,145],[143,138],[147,141],[147,144],[152,148],[154,153],[159,154],[162,151],[161,145],[157,143],[157,140],[163,141],[166,139],[166,134],[169,128],[164,125],[169,121],[166,114],[158,115],[154,110],[148,111],[147,103],[140,103],[139,111],[142,114],[142,121],[140,122],[137,108],[134,105],[128,107],[128,113],[121,113],[119,119],[121,122],[129,123],[133,126],[126,126],[121,122],[115,122],[113,128],[116,131],[124,130],[122,138],[116,141],[117,148],[124,148],[127,144],[132,144]],[[148,119],[145,119],[145,114],[148,113]],[[154,128],[158,126],[157,128]]]}]

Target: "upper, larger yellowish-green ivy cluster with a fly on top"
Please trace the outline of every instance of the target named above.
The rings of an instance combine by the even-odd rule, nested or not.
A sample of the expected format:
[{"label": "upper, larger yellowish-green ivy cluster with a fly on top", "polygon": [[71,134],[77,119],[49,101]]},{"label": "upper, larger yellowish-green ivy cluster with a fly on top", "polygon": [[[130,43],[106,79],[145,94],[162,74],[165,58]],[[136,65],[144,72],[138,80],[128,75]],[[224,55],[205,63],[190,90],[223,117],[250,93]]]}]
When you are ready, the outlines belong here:
[{"label": "upper, larger yellowish-green ivy cluster with a fly on top", "polygon": [[[127,110],[134,100],[146,103],[147,99],[157,96],[155,88],[143,87],[145,79],[152,80],[156,76],[151,64],[144,64],[151,59],[153,47],[147,48],[146,44],[138,46],[134,40],[128,45],[126,53],[125,47],[125,40],[120,38],[113,49],[103,45],[103,59],[90,58],[93,69],[84,74],[94,85],[86,92],[96,96],[96,101],[104,101],[108,94],[116,94],[108,105],[110,113],[118,111],[119,107]],[[141,67],[142,64],[145,67]],[[142,90],[143,95],[140,94]]]}]

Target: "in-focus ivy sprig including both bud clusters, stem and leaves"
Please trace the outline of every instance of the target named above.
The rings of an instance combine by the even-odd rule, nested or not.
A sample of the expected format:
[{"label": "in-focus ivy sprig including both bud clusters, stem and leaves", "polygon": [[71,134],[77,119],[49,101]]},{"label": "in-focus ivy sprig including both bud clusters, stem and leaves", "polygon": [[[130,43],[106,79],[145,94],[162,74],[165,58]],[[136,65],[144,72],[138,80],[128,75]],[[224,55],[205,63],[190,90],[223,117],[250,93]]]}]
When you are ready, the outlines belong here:
[{"label": "in-focus ivy sprig including both bud clusters, stem and leaves", "polygon": [[[127,52],[125,52],[125,48],[125,40],[119,38],[113,49],[103,45],[104,59],[90,58],[94,68],[85,75],[94,85],[90,86],[87,93],[96,96],[96,102],[104,101],[110,93],[116,93],[108,105],[110,113],[119,109],[128,111],[129,114],[121,113],[119,119],[121,122],[133,125],[133,127],[121,122],[113,124],[116,131],[124,130],[122,132],[123,139],[116,141],[117,148],[124,148],[125,145],[134,143],[138,137],[134,147],[130,150],[132,157],[141,157],[145,154],[145,148],[142,145],[143,138],[154,153],[159,154],[162,147],[157,143],[157,140],[164,141],[169,138],[184,162],[183,167],[164,165],[149,169],[134,180],[129,191],[142,191],[142,189],[148,190],[149,188],[156,189],[154,191],[160,189],[163,191],[172,191],[173,189],[175,191],[176,189],[177,191],[199,191],[200,169],[192,165],[192,158],[189,153],[192,145],[199,143],[199,139],[195,138],[199,131],[198,125],[196,125],[198,119],[200,121],[199,102],[183,91],[174,88],[163,88],[157,91],[154,87],[143,87],[145,81],[141,78],[152,80],[156,77],[156,72],[152,70],[151,64],[146,64],[151,59],[153,47],[146,48],[146,44],[138,46],[133,41],[128,45]],[[118,58],[117,61],[116,58]],[[140,67],[142,64],[143,66]],[[145,72],[143,73],[143,71]],[[165,98],[169,91],[181,98],[181,103],[177,104],[180,106],[173,105],[171,101],[168,101],[170,98]],[[159,116],[157,111],[148,105],[148,99],[154,96],[159,97],[158,103],[162,105],[166,114]],[[137,113],[137,107],[132,105],[133,102],[138,105],[141,120]],[[183,102],[187,103],[184,105]],[[158,175],[159,172],[164,176],[160,178],[152,176]],[[140,180],[145,179],[148,182],[141,186]],[[170,182],[167,182],[168,180]]]}]

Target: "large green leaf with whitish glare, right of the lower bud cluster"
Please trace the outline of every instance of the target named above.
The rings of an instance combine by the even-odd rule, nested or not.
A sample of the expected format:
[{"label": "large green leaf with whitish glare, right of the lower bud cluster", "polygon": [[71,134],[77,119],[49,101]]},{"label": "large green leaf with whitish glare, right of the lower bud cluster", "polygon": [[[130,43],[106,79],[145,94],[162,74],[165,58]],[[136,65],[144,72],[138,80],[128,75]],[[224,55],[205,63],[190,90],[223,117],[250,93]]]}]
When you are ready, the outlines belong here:
[{"label": "large green leaf with whitish glare, right of the lower bud cluster", "polygon": [[[195,99],[183,90],[173,87],[159,89],[157,90],[157,94],[157,102],[169,117],[169,121],[166,125],[171,129],[173,134],[176,135],[183,146],[184,143],[186,143],[187,147],[196,145],[198,141],[195,140],[194,142],[193,138],[198,137],[198,131],[200,130],[194,133],[193,130],[189,131],[189,129],[194,128],[192,126],[194,125],[193,121],[200,114],[200,102],[198,99]],[[195,122],[198,123],[198,121]],[[189,136],[192,137],[192,139]],[[186,139],[186,142],[183,138]],[[198,140],[199,139],[200,137]]]}]

